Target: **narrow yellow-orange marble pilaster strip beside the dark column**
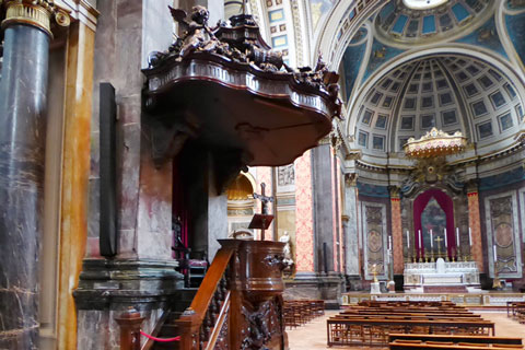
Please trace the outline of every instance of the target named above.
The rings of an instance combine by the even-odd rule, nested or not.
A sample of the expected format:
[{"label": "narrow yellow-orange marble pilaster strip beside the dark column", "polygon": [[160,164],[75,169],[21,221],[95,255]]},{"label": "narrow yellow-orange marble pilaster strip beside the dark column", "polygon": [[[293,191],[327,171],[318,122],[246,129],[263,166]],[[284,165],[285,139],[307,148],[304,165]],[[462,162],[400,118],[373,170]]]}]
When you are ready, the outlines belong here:
[{"label": "narrow yellow-orange marble pilaster strip beside the dark column", "polygon": [[[58,347],[77,347],[78,285],[88,238],[91,98],[95,32],[82,22],[71,25],[67,48],[62,156]],[[74,196],[72,196],[74,194]]]}]

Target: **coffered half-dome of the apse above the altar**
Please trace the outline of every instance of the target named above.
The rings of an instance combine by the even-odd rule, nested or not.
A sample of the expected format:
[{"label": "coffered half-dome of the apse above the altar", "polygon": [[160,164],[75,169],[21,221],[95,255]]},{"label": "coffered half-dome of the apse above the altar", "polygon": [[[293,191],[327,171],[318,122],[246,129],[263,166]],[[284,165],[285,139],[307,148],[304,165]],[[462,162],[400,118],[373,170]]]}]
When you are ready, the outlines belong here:
[{"label": "coffered half-dome of the apse above the altar", "polygon": [[355,143],[364,154],[402,152],[432,127],[462,131],[478,149],[512,137],[523,105],[497,68],[467,56],[412,60],[393,69],[364,97]]}]

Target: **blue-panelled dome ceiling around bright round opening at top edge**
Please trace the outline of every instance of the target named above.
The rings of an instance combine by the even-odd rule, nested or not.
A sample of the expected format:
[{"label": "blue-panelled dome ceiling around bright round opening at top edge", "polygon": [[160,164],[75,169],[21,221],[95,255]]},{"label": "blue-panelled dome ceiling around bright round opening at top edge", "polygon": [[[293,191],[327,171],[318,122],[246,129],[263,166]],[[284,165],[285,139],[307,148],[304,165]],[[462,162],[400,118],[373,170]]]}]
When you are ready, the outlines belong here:
[{"label": "blue-panelled dome ceiling around bright round opening at top edge", "polygon": [[[424,43],[450,38],[465,26],[481,23],[489,10],[489,0],[390,0],[378,13],[375,27],[384,40]],[[432,1],[432,0],[431,0]],[[407,7],[423,3],[415,10]],[[424,8],[427,4],[430,8]]]}]

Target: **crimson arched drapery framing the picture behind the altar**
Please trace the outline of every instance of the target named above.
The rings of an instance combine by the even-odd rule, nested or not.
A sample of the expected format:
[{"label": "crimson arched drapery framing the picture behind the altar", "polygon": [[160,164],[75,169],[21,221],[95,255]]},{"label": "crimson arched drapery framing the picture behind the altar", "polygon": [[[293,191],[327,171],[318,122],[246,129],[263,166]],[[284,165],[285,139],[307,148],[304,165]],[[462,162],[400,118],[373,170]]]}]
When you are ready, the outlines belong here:
[{"label": "crimson arched drapery framing the picture behind the altar", "polygon": [[[416,249],[418,250],[417,256],[419,257],[421,254],[421,247],[419,246],[419,231],[423,233],[422,226],[421,226],[421,214],[429,203],[429,201],[435,198],[438,203],[440,205],[441,209],[446,214],[446,240],[448,241],[448,246],[447,246],[447,254],[448,256],[452,256],[452,252],[456,250],[456,240],[455,240],[455,231],[454,231],[454,202],[452,201],[452,198],[445,194],[444,191],[440,189],[429,189],[421,195],[419,195],[416,200],[413,201],[413,228],[415,228],[415,246]],[[424,243],[421,242],[421,245],[424,248]],[[423,253],[424,255],[424,253]]]}]

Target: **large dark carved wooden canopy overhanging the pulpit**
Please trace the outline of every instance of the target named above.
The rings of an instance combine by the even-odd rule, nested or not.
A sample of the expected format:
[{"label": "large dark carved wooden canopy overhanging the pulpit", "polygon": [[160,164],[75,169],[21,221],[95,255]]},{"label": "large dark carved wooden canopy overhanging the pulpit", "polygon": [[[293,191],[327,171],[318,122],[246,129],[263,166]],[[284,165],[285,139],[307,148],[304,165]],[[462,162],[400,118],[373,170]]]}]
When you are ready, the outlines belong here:
[{"label": "large dark carved wooden canopy overhanging the pulpit", "polygon": [[[338,74],[288,67],[260,37],[250,15],[208,26],[208,10],[172,15],[186,31],[150,55],[143,89],[159,164],[188,139],[238,151],[243,165],[284,165],[315,147],[340,116]],[[171,35],[171,33],[166,33]]]}]

